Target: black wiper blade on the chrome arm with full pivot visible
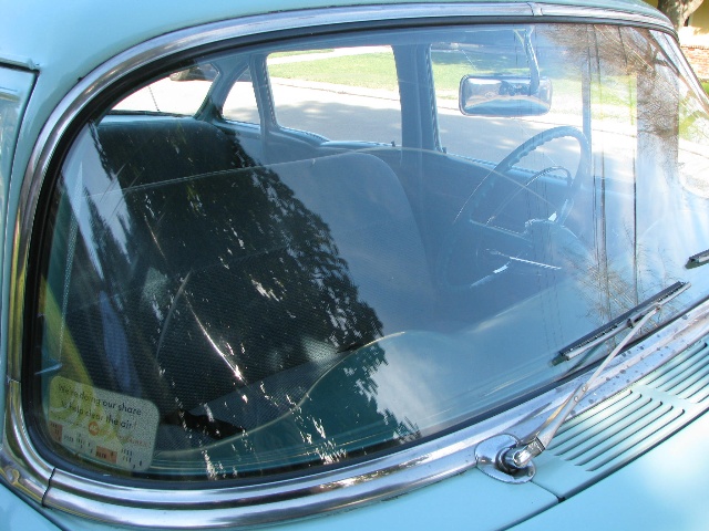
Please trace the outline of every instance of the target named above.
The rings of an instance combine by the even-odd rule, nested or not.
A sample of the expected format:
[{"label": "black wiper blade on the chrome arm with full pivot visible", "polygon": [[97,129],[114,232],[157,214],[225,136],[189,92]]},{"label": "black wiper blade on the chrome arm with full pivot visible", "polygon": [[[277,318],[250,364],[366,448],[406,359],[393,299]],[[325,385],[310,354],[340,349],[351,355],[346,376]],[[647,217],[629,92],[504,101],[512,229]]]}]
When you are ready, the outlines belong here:
[{"label": "black wiper blade on the chrome arm with full pivot visible", "polygon": [[647,312],[651,311],[658,304],[662,305],[675,299],[689,288],[689,282],[675,282],[669,288],[660,291],[659,293],[650,296],[646,301],[634,309],[625,312],[623,315],[609,321],[603,326],[597,327],[589,334],[584,335],[580,340],[565,346],[558,351],[561,357],[565,361],[573,360],[574,357],[583,354],[584,352],[593,348],[594,346],[605,343],[610,337],[619,334],[624,330],[635,326],[639,320],[641,320]]}]

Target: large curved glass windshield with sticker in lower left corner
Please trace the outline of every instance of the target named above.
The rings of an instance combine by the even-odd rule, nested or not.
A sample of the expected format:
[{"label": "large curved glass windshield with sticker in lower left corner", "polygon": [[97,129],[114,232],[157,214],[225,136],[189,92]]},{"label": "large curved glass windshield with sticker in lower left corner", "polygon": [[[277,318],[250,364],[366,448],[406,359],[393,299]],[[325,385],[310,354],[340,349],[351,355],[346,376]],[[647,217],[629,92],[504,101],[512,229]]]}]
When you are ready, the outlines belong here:
[{"label": "large curved glass windshield with sticker in lower left corner", "polygon": [[[709,294],[706,98],[662,33],[418,28],[175,72],[96,110],[37,238],[35,428],[82,467],[347,462],[577,374],[613,342],[564,347],[675,282],[648,330]],[[125,104],[185,83],[193,115]]]}]

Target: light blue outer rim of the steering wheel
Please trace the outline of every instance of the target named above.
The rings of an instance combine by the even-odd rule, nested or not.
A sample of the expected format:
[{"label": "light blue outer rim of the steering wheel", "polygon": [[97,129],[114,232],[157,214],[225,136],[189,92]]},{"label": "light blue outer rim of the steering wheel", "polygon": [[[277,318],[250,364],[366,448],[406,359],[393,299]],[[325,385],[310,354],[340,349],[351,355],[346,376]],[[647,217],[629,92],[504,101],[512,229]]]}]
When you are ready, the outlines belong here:
[{"label": "light blue outer rim of the steering wheel", "polygon": [[[485,283],[490,277],[494,273],[502,272],[502,270],[491,270],[489,274],[482,275],[477,278],[473,282],[453,284],[449,281],[449,268],[451,266],[452,254],[454,250],[455,242],[460,239],[463,228],[467,223],[472,223],[472,215],[476,211],[481,204],[485,200],[487,196],[490,196],[491,191],[495,188],[496,183],[500,177],[504,177],[506,173],[508,173],[520,160],[522,160],[525,156],[537,149],[538,147],[547,144],[551,140],[556,138],[571,137],[576,139],[579,146],[579,160],[578,166],[576,168],[576,173],[573,177],[571,177],[571,173],[563,167],[549,167],[544,168],[541,171],[535,173],[532,178],[530,178],[526,183],[521,184],[514,181],[515,185],[518,186],[516,192],[522,191],[522,189],[527,189],[527,187],[534,183],[538,177],[549,173],[551,170],[563,169],[566,171],[567,176],[569,176],[568,187],[565,194],[564,202],[559,207],[556,212],[556,217],[554,222],[563,226],[568,212],[571,211],[573,205],[573,197],[578,191],[580,187],[580,183],[590,174],[590,148],[588,146],[588,140],[586,136],[576,127],[573,126],[558,126],[552,127],[551,129],[543,131],[532,136],[526,142],[520,144],[516,148],[514,148],[506,157],[504,157],[493,169],[492,171],[483,179],[483,181],[473,190],[471,196],[467,198],[461,210],[459,211],[455,220],[453,221],[451,228],[446,232],[443,238],[443,242],[441,244],[441,250],[439,252],[439,259],[436,263],[436,277],[438,283],[443,291],[448,292],[461,292],[473,289],[482,283]],[[506,201],[502,201],[505,204]],[[487,226],[495,216],[490,217],[482,223],[481,226]],[[528,225],[530,220],[527,220]],[[520,238],[521,241],[524,241],[524,238]],[[524,244],[524,243],[523,243]],[[477,258],[480,261],[480,257]]]}]

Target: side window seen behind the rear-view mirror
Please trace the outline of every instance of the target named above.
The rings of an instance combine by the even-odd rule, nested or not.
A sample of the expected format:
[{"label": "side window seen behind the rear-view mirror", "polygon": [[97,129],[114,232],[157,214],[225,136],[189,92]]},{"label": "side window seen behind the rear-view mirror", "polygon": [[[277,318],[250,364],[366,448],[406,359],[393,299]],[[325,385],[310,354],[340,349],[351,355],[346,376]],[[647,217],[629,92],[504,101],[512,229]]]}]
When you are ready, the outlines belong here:
[{"label": "side window seen behind the rear-view mirror", "polygon": [[[580,79],[583,58],[559,62],[555,54],[562,39],[530,30],[491,29],[469,35],[466,41],[433,43],[431,65],[441,147],[449,154],[497,164],[515,147],[554,125],[582,127],[582,91],[576,80]],[[476,101],[487,103],[484,110],[467,116],[459,102],[464,77],[474,79],[474,90],[480,91]],[[540,97],[546,100],[546,108],[525,106],[533,100],[523,93],[528,92],[535,79],[535,92],[544,93]],[[504,107],[496,107],[495,102],[505,96]],[[520,107],[511,105],[515,102]],[[562,138],[522,157],[522,166],[532,170],[557,165],[575,167],[576,160],[567,154],[577,152],[576,140]]]}]

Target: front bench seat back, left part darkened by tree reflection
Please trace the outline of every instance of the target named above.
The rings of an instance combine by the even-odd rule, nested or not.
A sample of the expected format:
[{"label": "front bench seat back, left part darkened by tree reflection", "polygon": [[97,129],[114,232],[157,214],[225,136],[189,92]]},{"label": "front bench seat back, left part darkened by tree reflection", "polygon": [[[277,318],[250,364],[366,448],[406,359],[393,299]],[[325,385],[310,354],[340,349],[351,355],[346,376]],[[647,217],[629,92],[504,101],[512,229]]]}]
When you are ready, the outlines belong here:
[{"label": "front bench seat back, left part darkened by tree reflection", "polygon": [[[247,168],[160,194],[171,208],[151,227],[155,262],[175,298],[156,356],[185,403],[425,326],[423,247],[378,158]],[[195,369],[208,389],[194,385]]]}]

